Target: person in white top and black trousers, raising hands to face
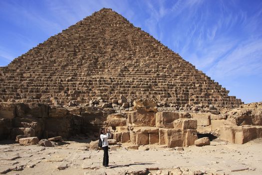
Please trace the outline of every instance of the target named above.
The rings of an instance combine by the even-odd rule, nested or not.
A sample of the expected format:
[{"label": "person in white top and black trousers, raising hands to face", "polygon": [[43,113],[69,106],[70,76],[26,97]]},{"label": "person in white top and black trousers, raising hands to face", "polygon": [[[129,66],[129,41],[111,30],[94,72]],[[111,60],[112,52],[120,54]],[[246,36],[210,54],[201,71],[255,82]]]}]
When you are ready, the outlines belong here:
[{"label": "person in white top and black trousers, raising hands to face", "polygon": [[103,166],[108,167],[108,138],[110,138],[110,131],[107,128],[100,129],[100,139],[102,140],[102,148],[104,150]]}]

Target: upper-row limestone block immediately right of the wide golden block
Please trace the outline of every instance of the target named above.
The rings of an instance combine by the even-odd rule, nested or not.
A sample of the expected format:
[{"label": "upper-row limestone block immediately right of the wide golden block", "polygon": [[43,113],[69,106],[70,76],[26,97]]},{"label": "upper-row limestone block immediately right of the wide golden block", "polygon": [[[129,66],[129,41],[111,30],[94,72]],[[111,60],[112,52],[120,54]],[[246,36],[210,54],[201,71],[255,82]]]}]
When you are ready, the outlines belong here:
[{"label": "upper-row limestone block immediately right of the wide golden block", "polygon": [[156,126],[173,128],[173,121],[179,119],[178,112],[157,112],[156,113]]}]

